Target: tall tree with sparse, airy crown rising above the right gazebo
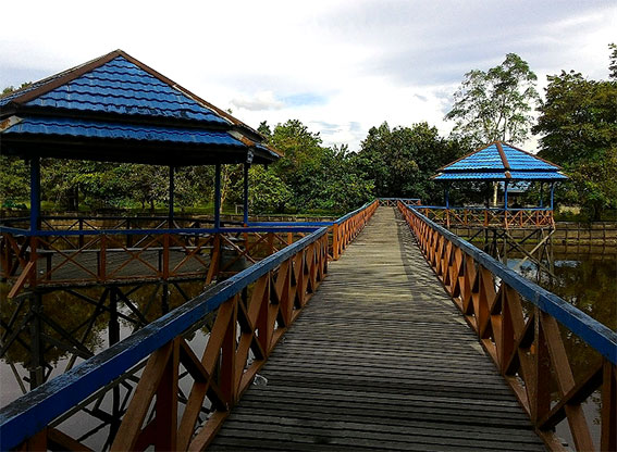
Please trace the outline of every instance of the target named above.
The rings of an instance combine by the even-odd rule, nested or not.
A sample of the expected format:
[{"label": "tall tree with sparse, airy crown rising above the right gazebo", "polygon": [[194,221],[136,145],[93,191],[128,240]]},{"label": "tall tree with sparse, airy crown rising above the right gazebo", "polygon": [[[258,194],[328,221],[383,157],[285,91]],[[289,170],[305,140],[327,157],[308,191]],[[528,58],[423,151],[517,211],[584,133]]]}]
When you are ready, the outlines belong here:
[{"label": "tall tree with sparse, airy crown rising above the right gazebo", "polygon": [[496,140],[523,142],[539,100],[536,79],[526,61],[508,53],[502,64],[488,72],[465,74],[445,118],[456,122],[455,135],[469,138],[474,146]]}]

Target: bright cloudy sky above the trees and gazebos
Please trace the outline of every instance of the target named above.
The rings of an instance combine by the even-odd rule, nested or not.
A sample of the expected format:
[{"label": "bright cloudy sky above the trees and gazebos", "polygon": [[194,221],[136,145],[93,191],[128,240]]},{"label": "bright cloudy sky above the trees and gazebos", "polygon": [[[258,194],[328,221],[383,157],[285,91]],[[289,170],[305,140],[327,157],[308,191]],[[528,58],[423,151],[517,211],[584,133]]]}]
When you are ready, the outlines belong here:
[{"label": "bright cloudy sky above the trees and gazebos", "polygon": [[[24,10],[22,10],[22,8]],[[122,49],[257,127],[298,118],[357,150],[372,126],[443,116],[472,68],[606,78],[615,0],[27,1],[4,5],[0,88]]]}]

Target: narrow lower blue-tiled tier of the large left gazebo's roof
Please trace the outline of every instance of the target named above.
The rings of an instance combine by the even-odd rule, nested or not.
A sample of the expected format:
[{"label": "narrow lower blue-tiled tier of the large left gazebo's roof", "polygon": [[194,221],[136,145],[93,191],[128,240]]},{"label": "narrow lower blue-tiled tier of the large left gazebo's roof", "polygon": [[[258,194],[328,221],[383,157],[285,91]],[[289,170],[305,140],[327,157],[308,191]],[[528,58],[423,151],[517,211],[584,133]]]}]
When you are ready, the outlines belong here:
[{"label": "narrow lower blue-tiled tier of the large left gazebo's roof", "polygon": [[27,117],[9,127],[3,134],[5,136],[70,136],[76,138],[112,138],[244,148],[242,141],[235,139],[226,131],[207,131],[196,128],[162,127],[66,117]]}]

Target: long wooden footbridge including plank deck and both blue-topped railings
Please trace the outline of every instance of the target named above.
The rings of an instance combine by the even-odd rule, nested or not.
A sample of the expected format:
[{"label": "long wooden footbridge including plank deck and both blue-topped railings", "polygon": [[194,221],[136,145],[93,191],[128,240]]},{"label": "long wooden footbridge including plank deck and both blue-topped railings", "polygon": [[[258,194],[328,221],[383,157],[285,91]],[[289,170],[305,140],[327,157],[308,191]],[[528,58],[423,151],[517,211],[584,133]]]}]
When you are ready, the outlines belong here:
[{"label": "long wooden footbridge including plank deck and both blue-topped railings", "polygon": [[[577,450],[615,450],[617,335],[414,208],[378,204],[3,407],[0,449],[101,448],[64,423],[113,392],[110,450],[559,450],[564,419]],[[559,328],[594,350],[587,375]]]}]

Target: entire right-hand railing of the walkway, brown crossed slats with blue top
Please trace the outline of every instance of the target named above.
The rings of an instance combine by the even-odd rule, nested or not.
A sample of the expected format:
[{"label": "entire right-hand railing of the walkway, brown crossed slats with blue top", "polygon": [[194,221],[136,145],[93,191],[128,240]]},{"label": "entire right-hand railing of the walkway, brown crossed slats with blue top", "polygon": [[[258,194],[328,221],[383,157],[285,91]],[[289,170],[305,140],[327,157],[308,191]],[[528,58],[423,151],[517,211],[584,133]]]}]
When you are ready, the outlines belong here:
[{"label": "entire right-hand railing of the walkway, brown crossed slats with blue top", "polygon": [[[495,362],[539,436],[554,450],[553,428],[567,418],[577,450],[594,450],[581,403],[602,388],[601,449],[617,447],[617,332],[507,268],[471,243],[398,203],[427,261]],[[531,303],[531,312],[522,300]],[[576,382],[558,323],[601,356]],[[552,403],[551,379],[558,398]],[[554,402],[554,401],[553,401]]]}]

